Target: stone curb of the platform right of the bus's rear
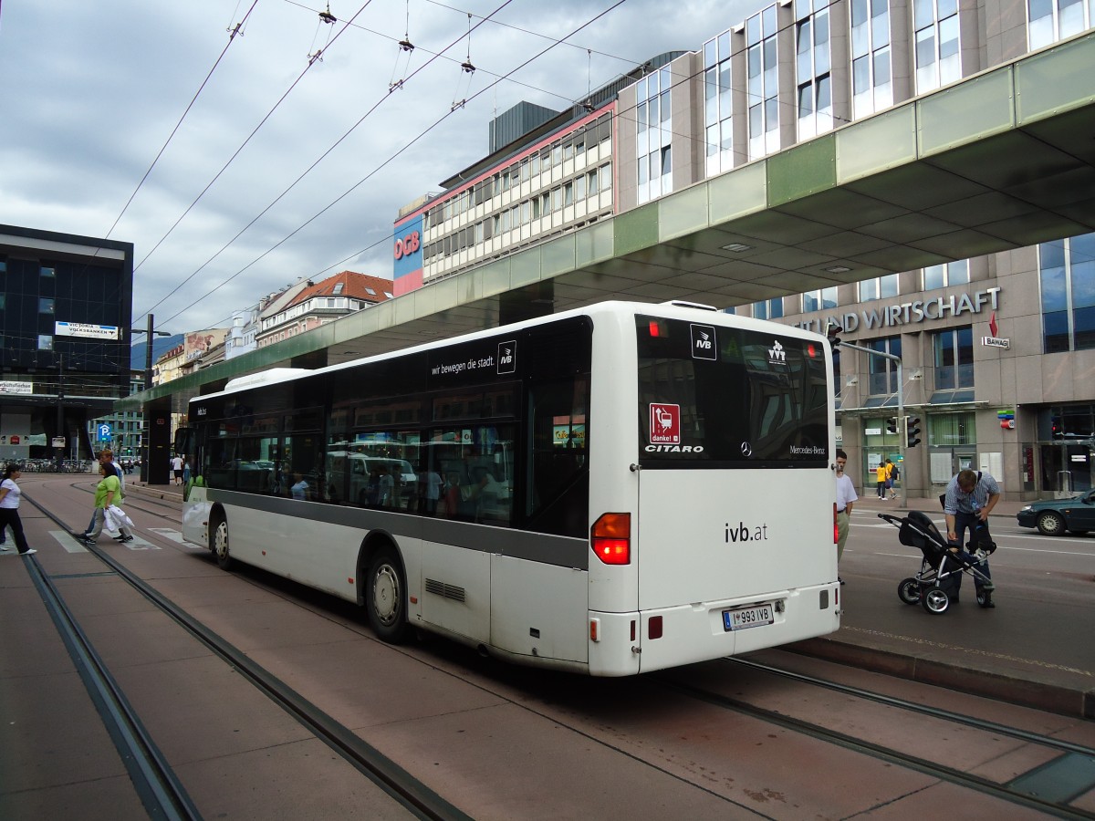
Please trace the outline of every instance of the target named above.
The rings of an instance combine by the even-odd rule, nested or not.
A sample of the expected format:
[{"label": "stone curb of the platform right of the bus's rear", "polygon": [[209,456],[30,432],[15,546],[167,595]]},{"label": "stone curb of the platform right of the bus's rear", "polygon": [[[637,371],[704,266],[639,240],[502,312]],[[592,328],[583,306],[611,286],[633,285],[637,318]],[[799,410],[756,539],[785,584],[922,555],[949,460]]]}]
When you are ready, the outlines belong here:
[{"label": "stone curb of the platform right of the bus's rear", "polygon": [[943,661],[902,656],[832,638],[809,638],[785,645],[783,649],[811,656],[862,670],[895,675],[922,684],[960,690],[964,693],[995,698],[1024,707],[1095,719],[1095,689],[1069,690],[1056,684],[1045,684],[1016,679],[1000,673],[949,664]]}]

